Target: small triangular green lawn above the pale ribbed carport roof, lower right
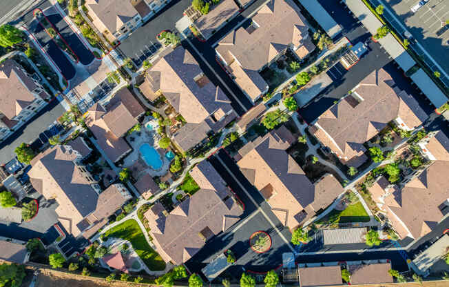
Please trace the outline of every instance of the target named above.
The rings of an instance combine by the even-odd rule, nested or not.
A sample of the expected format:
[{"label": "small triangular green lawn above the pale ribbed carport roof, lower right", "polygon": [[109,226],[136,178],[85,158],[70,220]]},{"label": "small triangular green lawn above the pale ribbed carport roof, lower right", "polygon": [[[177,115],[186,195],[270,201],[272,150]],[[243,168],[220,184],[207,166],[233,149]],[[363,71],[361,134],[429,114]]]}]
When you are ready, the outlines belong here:
[{"label": "small triangular green lawn above the pale ribbed carport roof, lower right", "polygon": [[328,215],[317,221],[317,224],[338,224],[348,222],[368,222],[370,217],[361,202],[351,204],[345,210],[332,210]]}]

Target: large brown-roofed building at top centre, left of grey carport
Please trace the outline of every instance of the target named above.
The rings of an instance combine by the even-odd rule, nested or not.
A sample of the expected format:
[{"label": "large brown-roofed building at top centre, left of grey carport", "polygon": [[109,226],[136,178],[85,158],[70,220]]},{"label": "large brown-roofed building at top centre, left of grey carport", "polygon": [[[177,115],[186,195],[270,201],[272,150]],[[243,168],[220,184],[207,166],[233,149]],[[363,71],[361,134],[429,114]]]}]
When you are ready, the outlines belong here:
[{"label": "large brown-roofed building at top centre, left of grey carport", "polygon": [[268,92],[261,70],[287,49],[300,61],[315,48],[308,30],[309,24],[293,1],[271,0],[251,17],[251,24],[229,32],[216,52],[238,86],[256,101]]}]

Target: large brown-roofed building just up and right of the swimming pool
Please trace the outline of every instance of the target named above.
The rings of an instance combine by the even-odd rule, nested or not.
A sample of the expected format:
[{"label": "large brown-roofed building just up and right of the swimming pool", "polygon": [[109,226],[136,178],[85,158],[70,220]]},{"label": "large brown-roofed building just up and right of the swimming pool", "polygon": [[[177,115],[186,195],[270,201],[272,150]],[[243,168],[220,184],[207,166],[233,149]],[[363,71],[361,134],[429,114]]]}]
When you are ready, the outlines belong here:
[{"label": "large brown-roofed building just up and right of the swimming pool", "polygon": [[225,92],[207,78],[194,57],[182,47],[161,57],[147,70],[147,75],[152,92],[163,95],[187,121],[173,135],[184,151],[237,117]]}]

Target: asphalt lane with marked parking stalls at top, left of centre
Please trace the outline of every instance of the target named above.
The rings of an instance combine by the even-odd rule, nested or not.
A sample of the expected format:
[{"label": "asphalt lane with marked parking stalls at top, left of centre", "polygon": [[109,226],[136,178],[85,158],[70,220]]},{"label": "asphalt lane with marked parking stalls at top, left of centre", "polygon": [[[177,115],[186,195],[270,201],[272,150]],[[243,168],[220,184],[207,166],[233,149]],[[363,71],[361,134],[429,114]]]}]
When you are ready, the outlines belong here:
[{"label": "asphalt lane with marked parking stalls at top, left of centre", "polygon": [[160,10],[147,23],[134,31],[131,36],[121,41],[118,50],[140,66],[145,59],[161,48],[156,36],[163,30],[176,32],[175,23],[182,13],[191,5],[189,0],[173,0]]}]

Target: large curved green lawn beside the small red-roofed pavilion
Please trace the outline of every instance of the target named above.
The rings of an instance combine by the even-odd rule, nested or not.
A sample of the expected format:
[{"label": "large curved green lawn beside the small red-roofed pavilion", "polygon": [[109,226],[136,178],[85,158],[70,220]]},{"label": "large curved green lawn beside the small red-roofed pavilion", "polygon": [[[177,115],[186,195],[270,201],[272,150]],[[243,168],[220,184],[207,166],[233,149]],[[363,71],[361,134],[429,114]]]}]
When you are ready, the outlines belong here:
[{"label": "large curved green lawn beside the small red-roofed pavilion", "polygon": [[134,219],[129,219],[123,224],[119,224],[105,232],[107,237],[116,237],[126,239],[131,242],[132,247],[136,250],[138,256],[147,264],[151,270],[164,270],[164,260],[151,248],[145,235]]}]

